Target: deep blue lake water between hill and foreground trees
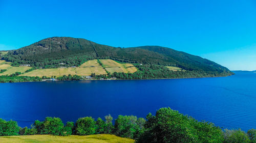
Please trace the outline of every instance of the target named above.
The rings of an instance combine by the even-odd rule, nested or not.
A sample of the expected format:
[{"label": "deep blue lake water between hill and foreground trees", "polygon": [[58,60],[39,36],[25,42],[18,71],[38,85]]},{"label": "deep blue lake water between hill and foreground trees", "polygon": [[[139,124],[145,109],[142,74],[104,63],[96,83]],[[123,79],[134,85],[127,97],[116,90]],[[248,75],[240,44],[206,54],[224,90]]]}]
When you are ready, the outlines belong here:
[{"label": "deep blue lake water between hill and foreground trees", "polygon": [[247,131],[256,128],[256,73],[228,77],[47,81],[0,84],[0,118],[21,127],[45,117],[135,115],[170,107],[197,120]]}]

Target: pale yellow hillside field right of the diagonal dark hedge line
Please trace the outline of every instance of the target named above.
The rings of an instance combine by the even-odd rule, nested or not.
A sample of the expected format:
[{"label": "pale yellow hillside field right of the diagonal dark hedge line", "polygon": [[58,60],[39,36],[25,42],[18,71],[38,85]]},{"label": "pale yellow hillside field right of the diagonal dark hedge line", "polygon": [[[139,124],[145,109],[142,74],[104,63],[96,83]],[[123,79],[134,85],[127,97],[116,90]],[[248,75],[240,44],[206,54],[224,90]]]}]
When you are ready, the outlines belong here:
[{"label": "pale yellow hillside field right of the diagonal dark hedge line", "polygon": [[137,68],[133,64],[121,64],[113,60],[100,60],[102,66],[110,73],[113,72],[124,72],[124,73],[134,73],[137,71]]}]

